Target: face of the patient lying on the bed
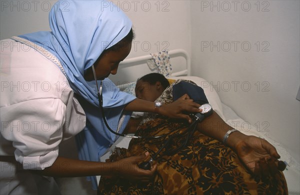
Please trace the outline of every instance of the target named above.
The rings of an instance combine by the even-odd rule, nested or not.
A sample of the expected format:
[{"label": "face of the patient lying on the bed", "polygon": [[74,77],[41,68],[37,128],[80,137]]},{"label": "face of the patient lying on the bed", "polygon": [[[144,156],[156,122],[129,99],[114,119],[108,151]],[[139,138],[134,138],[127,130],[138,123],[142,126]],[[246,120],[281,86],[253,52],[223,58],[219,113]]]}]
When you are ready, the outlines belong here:
[{"label": "face of the patient lying on the bed", "polygon": [[135,96],[139,99],[154,102],[163,91],[160,88],[157,85],[150,85],[148,82],[139,80],[135,86]]}]

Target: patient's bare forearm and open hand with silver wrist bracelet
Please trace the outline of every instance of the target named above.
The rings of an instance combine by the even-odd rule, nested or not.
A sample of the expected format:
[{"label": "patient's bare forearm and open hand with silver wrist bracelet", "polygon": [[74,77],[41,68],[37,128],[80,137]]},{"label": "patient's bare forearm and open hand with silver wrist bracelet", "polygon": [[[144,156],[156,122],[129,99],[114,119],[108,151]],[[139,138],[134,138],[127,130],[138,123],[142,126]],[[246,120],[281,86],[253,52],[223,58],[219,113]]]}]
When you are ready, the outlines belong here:
[{"label": "patient's bare forearm and open hand with silver wrist bracelet", "polygon": [[[232,129],[214,111],[199,123],[197,128],[203,134],[219,141],[222,141],[225,133]],[[264,175],[285,168],[285,164],[277,160],[280,156],[275,147],[264,139],[235,131],[230,133],[226,143],[254,174]]]}]

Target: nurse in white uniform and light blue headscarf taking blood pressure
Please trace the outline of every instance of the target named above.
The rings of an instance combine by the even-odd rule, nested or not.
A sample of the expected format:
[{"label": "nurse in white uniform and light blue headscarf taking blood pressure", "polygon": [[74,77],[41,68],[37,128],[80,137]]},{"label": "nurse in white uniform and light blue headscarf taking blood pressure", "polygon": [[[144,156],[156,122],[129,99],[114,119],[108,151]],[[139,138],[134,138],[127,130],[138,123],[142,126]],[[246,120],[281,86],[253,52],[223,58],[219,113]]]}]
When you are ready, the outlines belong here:
[{"label": "nurse in white uniform and light blue headscarf taking blood pressure", "polygon": [[[133,32],[131,21],[104,3],[110,4],[59,1],[49,13],[50,32],[1,40],[0,194],[59,194],[53,176],[153,176],[156,166],[137,166],[148,152],[98,162],[116,136],[103,123],[92,65],[96,79],[103,80],[105,117],[118,132],[132,111],[186,120],[184,111],[200,111],[188,96],[155,107],[107,79],[129,54]],[[81,160],[59,157],[61,141],[76,134]]]}]

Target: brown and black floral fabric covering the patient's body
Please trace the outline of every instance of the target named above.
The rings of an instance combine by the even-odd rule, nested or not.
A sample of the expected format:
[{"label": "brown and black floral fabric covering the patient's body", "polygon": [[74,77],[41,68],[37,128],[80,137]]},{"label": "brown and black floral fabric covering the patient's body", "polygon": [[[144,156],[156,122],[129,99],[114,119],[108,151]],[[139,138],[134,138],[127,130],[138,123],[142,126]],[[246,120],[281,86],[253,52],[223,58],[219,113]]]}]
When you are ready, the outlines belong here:
[{"label": "brown and black floral fabric covering the patient's body", "polygon": [[[141,125],[136,134],[156,136],[178,128],[180,130],[172,134],[184,133],[186,124],[157,118]],[[154,154],[168,137],[159,140],[132,139],[128,149],[116,149],[109,160],[140,155],[144,151]],[[175,154],[169,152],[184,140],[184,136],[175,136],[170,145],[157,155],[157,174],[151,182],[101,177],[98,194],[287,194],[281,171],[255,177],[241,164],[234,151],[198,131],[185,148]]]}]

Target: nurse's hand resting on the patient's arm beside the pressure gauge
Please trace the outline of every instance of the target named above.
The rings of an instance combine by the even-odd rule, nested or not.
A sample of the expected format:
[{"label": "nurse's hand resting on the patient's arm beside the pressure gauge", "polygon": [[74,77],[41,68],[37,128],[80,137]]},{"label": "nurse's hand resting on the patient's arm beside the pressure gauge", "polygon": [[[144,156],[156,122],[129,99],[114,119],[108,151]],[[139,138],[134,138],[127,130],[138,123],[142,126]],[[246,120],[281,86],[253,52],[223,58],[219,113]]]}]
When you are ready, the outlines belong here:
[{"label": "nurse's hand resting on the patient's arm beside the pressure gauge", "polygon": [[191,123],[191,118],[186,113],[201,112],[202,109],[199,107],[200,104],[193,102],[187,94],[184,94],[171,104],[163,104],[158,108],[158,113],[170,118],[182,118]]}]

